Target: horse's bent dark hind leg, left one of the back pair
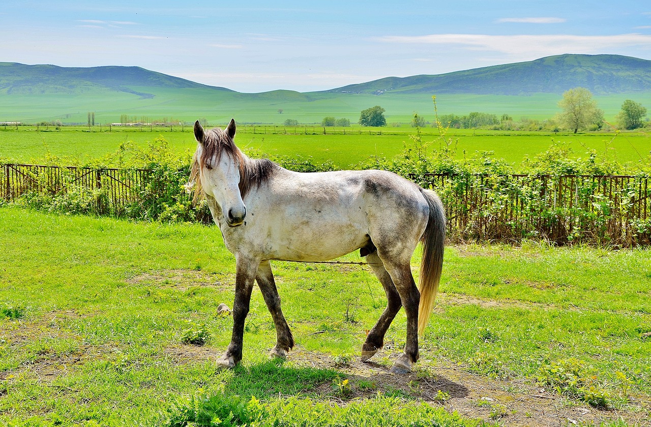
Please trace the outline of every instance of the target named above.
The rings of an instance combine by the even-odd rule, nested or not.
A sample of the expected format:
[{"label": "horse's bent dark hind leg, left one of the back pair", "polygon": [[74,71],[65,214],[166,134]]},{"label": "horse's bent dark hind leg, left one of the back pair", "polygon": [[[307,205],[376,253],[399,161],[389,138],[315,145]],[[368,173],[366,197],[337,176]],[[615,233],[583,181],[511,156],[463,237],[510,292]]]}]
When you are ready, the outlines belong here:
[{"label": "horse's bent dark hind leg, left one of the back pair", "polygon": [[402,307],[402,302],[400,302],[400,294],[396,291],[396,287],[393,284],[393,280],[389,273],[384,268],[378,253],[370,253],[367,256],[368,265],[373,269],[373,272],[382,287],[384,287],[384,292],[387,294],[387,307],[382,312],[382,315],[378,319],[378,322],[373,326],[373,329],[368,333],[367,339],[362,346],[362,357],[363,362],[367,361],[374,356],[384,345],[384,335],[389,329],[389,325],[393,321],[393,318],[396,317],[400,307]]}]

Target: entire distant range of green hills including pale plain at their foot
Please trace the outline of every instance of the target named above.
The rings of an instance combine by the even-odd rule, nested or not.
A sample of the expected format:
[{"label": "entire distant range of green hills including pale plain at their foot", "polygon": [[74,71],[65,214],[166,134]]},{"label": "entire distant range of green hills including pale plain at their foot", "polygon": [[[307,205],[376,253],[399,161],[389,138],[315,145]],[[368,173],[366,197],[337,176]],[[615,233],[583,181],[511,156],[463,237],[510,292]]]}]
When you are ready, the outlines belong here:
[{"label": "entire distant range of green hills including pale plain at their foot", "polygon": [[[583,86],[596,96],[607,118],[624,99],[651,99],[651,60],[618,55],[559,55],[441,75],[387,77],[320,92],[273,90],[235,92],[139,67],[63,68],[0,62],[0,122],[60,120],[85,123],[94,112],[100,123],[117,122],[122,114],[206,118],[226,123],[318,123],[325,116],[357,122],[373,105],[385,108],[387,122],[409,122],[414,111],[472,111],[548,118],[557,112],[561,94]],[[646,105],[651,107],[651,105]],[[429,119],[428,119],[429,120]]]}]

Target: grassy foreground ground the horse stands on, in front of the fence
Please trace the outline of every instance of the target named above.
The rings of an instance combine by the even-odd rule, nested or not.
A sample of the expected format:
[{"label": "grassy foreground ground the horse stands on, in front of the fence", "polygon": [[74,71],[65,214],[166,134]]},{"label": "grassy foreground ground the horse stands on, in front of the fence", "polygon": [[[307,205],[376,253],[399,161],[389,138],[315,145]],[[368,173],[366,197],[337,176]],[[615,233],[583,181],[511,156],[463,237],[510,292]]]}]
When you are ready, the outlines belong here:
[{"label": "grassy foreground ground the horse stands on, in front of the fence", "polygon": [[[267,411],[262,425],[651,423],[649,250],[450,246],[421,360],[396,377],[402,312],[374,363],[359,363],[385,306],[367,266],[274,262],[294,352],[268,360],[275,331],[254,291],[243,364],[215,372],[232,321],[216,309],[234,295],[216,227],[0,207],[0,245],[3,425],[184,425],[191,396],[245,402]],[[197,330],[207,343],[184,344]],[[559,366],[592,388],[546,383],[565,378]]]}]

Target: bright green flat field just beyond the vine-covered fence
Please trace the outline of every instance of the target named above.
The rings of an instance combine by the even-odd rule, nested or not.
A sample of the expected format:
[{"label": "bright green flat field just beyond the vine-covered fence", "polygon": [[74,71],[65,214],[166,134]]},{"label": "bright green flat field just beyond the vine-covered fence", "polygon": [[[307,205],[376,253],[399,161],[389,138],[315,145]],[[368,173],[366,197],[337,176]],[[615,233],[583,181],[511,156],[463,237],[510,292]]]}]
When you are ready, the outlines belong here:
[{"label": "bright green flat field just beyond the vine-covered fence", "polygon": [[[224,125],[222,125],[224,126]],[[116,129],[108,132],[103,127],[87,131],[87,127],[53,128],[19,127],[15,130],[0,128],[0,159],[15,162],[43,162],[48,156],[74,157],[84,162],[115,153],[120,144],[132,141],[144,147],[147,142],[163,136],[179,153],[193,152],[196,142],[191,127]],[[281,126],[239,126],[236,142],[242,148],[251,149],[253,155],[281,155],[312,157],[314,161],[331,161],[337,168],[360,168],[374,157],[391,157],[402,152],[409,135],[416,130],[411,127],[389,128],[326,128],[307,126],[285,128]],[[346,135],[344,135],[344,130]],[[422,140],[436,142],[436,129],[421,129]],[[334,135],[333,135],[334,134]],[[371,135],[369,135],[371,134]],[[447,138],[458,141],[457,156],[471,156],[477,151],[493,151],[493,156],[512,164],[519,164],[524,157],[532,157],[546,151],[552,142],[567,142],[575,155],[584,155],[587,149],[607,153],[618,161],[638,162],[648,159],[651,139],[644,132],[622,133],[613,140],[614,133],[544,133],[504,132],[473,129],[449,129]],[[189,155],[189,154],[188,154]]]}]

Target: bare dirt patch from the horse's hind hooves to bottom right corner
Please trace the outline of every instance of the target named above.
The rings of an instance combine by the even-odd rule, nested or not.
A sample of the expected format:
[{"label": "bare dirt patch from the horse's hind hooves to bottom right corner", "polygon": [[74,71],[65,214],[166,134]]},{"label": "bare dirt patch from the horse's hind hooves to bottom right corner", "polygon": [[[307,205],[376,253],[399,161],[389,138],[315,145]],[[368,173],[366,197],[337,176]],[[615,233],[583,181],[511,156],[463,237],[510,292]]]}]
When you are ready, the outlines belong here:
[{"label": "bare dirt patch from the horse's hind hooves to bottom right corner", "polygon": [[[395,359],[397,354],[378,353],[374,359]],[[413,372],[394,375],[390,365],[361,363],[353,357],[344,365],[335,358],[298,348],[290,353],[288,361],[317,369],[335,369],[342,372],[348,383],[342,392],[337,383],[324,383],[316,393],[344,405],[354,398],[370,398],[378,391],[407,399],[418,399],[428,404],[457,411],[467,419],[481,419],[501,426],[566,426],[612,422],[620,418],[631,426],[651,425],[650,413],[638,406],[635,412],[604,411],[585,404],[571,402],[553,395],[531,380],[493,380],[478,376],[463,366],[438,360],[421,359]],[[339,383],[340,384],[340,383]]]}]

